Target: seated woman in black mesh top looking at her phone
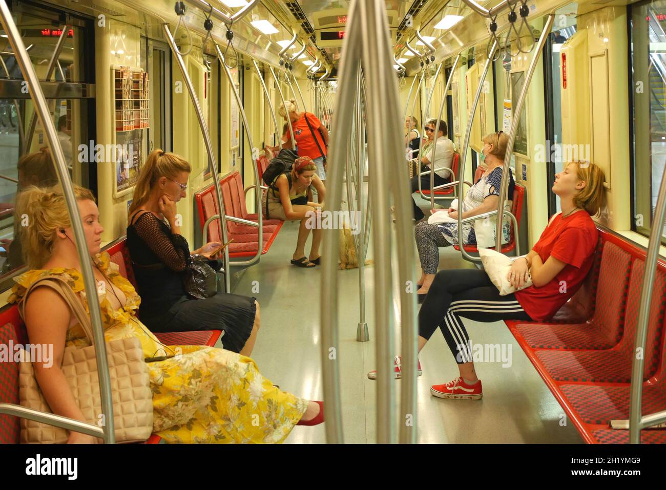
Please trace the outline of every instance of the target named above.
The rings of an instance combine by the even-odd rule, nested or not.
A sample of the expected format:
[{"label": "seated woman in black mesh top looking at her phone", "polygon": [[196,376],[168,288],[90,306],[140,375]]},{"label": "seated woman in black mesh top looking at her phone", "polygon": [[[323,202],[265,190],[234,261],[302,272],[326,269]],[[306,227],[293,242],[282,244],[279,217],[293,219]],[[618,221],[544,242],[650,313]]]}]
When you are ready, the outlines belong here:
[{"label": "seated woman in black mesh top looking at her phone", "polygon": [[[183,286],[191,258],[180,234],[176,202],[185,197],[191,170],[183,158],[162,150],[153,150],[141,169],[127,226],[127,246],[141,296],[139,316],[153,332],[224,330],[224,348],[249,356],[259,330],[256,298],[218,293],[197,300],[187,296]],[[214,260],[220,246],[210,242],[193,254]]]}]

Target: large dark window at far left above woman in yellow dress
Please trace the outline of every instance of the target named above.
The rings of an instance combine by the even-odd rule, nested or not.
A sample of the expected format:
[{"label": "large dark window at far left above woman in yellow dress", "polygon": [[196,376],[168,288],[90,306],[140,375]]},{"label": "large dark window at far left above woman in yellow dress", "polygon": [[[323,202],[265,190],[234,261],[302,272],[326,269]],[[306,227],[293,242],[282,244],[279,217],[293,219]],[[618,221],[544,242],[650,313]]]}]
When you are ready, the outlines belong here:
[{"label": "large dark window at far left above woman in yellow dress", "polygon": [[[67,15],[31,3],[12,4],[12,14],[28,50],[58,132],[73,182],[97,194],[97,167],[90,164],[95,140],[95,38],[93,19]],[[68,29],[47,81],[46,67],[67,23]],[[15,218],[17,195],[29,185],[57,183],[44,128],[4,31],[0,30],[0,289],[23,268],[23,250]],[[32,124],[34,122],[34,125]],[[32,129],[31,129],[32,128]],[[85,150],[82,150],[83,146]]]}]

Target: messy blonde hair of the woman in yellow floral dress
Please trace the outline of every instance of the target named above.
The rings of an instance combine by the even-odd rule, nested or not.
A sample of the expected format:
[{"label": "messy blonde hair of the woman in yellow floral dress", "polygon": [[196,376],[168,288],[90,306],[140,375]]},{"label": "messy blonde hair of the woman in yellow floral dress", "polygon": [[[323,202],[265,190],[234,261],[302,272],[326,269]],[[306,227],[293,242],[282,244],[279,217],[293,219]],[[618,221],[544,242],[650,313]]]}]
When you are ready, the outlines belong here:
[{"label": "messy blonde hair of the woman in yellow floral dress", "polygon": [[[90,190],[77,185],[73,187],[77,201],[95,202],[95,196]],[[29,186],[17,195],[16,200],[17,219],[27,218],[27,226],[19,227],[23,260],[29,268],[38,269],[53,254],[57,230],[72,226],[63,188],[60,184],[45,188]]]}]

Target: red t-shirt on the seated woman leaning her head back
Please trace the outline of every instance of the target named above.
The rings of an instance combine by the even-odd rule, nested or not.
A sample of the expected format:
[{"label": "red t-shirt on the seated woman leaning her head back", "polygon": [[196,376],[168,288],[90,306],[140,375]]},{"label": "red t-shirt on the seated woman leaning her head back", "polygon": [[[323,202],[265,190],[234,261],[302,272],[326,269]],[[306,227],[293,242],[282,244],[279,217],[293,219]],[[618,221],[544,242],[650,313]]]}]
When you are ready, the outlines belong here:
[{"label": "red t-shirt on the seated woman leaning her head back", "polygon": [[546,226],[532,250],[544,264],[553,256],[567,265],[545,286],[529,286],[515,292],[515,299],[532,320],[549,320],[580,288],[592,266],[598,235],[585,211],[576,211],[566,218],[557,214]]}]

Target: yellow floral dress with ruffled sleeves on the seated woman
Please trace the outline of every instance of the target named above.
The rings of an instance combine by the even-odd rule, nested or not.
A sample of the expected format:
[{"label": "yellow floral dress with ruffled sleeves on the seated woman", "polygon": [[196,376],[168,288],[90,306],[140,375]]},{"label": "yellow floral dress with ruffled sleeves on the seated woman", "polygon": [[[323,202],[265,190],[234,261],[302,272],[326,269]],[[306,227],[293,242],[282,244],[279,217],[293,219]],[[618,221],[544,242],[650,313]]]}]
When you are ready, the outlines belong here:
[{"label": "yellow floral dress with ruffled sleeves on the seated woman", "polygon": [[[168,443],[281,443],[300,420],[307,401],[280,391],[246,356],[204,346],[163,346],[136,317],[141,298],[103,252],[100,270],[127,297],[113,310],[100,293],[99,304],[107,342],[128,337],[141,340],[147,358],[176,354],[148,363],[153,390],[153,431]],[[27,288],[45,276],[59,276],[85,301],[83,276],[75,269],[30,270],[15,278],[9,302],[23,299]],[[113,294],[109,292],[109,294]],[[88,346],[79,324],[67,331],[66,346]]]}]

